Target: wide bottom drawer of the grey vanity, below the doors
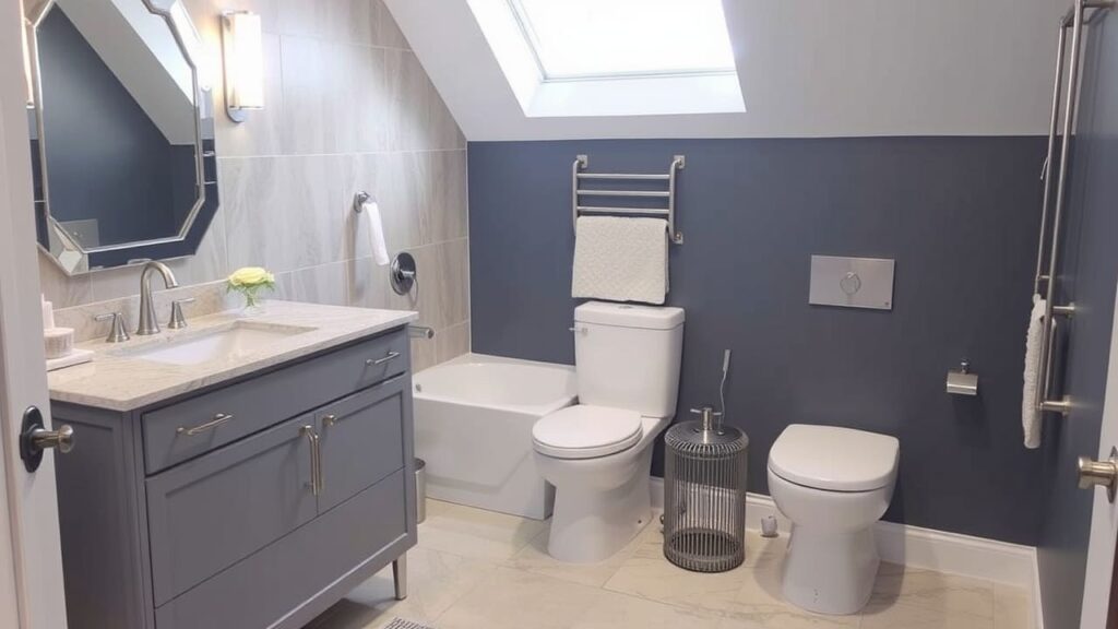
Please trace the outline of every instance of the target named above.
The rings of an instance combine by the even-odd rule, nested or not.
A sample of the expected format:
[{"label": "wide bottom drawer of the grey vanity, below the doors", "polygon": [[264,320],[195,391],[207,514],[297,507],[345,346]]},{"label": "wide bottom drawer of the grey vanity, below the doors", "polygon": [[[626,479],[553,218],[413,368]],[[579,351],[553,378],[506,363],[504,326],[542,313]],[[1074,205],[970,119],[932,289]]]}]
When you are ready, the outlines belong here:
[{"label": "wide bottom drawer of the grey vanity, below the doors", "polygon": [[[407,544],[406,481],[398,470],[283,539],[155,610],[157,629],[271,627],[324,584]],[[377,554],[392,546],[392,553]],[[376,558],[375,558],[376,557]]]}]

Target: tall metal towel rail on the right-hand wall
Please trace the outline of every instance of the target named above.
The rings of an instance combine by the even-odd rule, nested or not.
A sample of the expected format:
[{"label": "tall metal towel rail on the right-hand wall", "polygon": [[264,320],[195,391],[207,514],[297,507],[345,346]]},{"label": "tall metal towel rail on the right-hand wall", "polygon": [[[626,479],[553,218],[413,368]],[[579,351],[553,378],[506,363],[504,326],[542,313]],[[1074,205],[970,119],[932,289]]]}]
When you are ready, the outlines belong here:
[{"label": "tall metal towel rail on the right-hand wall", "polygon": [[[1105,10],[1115,6],[1112,0],[1076,0],[1071,9],[1060,20],[1059,47],[1057,48],[1055,63],[1055,85],[1052,88],[1052,119],[1049,126],[1048,154],[1044,158],[1044,167],[1041,179],[1044,182],[1043,200],[1041,201],[1041,237],[1036,251],[1036,274],[1033,288],[1036,294],[1041,294],[1041,287],[1044,287],[1045,309],[1044,309],[1044,332],[1041,337],[1040,346],[1040,370],[1038,372],[1038,387],[1034,398],[1036,409],[1052,411],[1067,415],[1071,412],[1071,401],[1068,396],[1060,400],[1052,400],[1052,362],[1053,344],[1055,340],[1054,317],[1071,317],[1076,312],[1074,303],[1057,306],[1055,276],[1057,263],[1060,254],[1060,227],[1063,223],[1063,209],[1068,197],[1068,161],[1071,152],[1071,135],[1074,131],[1076,105],[1079,98],[1079,64],[1080,49],[1082,48],[1083,24],[1088,9]],[[1068,30],[1071,29],[1071,53],[1068,65],[1068,93],[1064,97],[1063,110],[1063,138],[1060,140],[1060,160],[1055,161],[1057,134],[1060,126],[1060,97],[1063,87],[1064,48],[1067,47]],[[1052,195],[1052,170],[1059,167],[1057,172],[1055,195]],[[1049,229],[1049,207],[1052,207],[1052,227]],[[1051,240],[1049,240],[1049,237]],[[1049,246],[1045,247],[1045,241]],[[1048,272],[1044,272],[1044,250],[1048,248]]]}]

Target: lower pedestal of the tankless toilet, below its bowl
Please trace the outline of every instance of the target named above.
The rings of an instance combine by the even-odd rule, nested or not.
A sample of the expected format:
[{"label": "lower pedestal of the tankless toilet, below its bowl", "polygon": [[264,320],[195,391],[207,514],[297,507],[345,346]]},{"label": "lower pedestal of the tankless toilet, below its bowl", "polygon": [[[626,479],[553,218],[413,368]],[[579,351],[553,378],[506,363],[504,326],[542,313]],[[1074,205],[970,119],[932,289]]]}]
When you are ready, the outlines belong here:
[{"label": "lower pedestal of the tankless toilet, below its bowl", "polygon": [[784,597],[817,613],[855,613],[870,600],[880,563],[872,527],[835,532],[794,524],[785,556]]}]

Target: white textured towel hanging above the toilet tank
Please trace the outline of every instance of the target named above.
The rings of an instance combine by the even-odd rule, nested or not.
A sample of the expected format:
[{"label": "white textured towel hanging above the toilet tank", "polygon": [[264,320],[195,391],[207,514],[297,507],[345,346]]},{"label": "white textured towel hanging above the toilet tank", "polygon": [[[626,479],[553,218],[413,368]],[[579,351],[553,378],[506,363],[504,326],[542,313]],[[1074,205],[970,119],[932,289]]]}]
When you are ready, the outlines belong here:
[{"label": "white textured towel hanging above the toilet tank", "polygon": [[578,219],[571,297],[664,303],[667,290],[666,220]]}]

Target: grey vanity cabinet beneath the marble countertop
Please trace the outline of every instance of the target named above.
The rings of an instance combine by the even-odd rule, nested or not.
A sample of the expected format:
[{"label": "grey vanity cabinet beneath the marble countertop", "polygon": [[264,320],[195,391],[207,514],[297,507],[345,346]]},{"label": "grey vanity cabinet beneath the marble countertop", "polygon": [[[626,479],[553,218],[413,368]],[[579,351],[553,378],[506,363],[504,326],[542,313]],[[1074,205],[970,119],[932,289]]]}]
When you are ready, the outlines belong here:
[{"label": "grey vanity cabinet beneath the marble countertop", "polygon": [[410,383],[398,328],[126,413],[53,404],[80,440],[57,460],[69,627],[296,629],[400,557]]}]

